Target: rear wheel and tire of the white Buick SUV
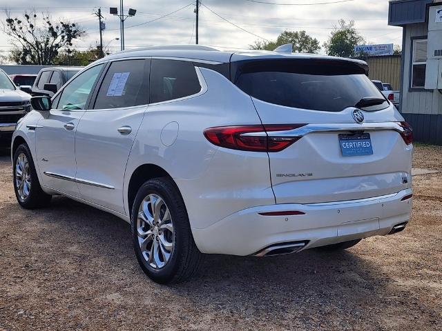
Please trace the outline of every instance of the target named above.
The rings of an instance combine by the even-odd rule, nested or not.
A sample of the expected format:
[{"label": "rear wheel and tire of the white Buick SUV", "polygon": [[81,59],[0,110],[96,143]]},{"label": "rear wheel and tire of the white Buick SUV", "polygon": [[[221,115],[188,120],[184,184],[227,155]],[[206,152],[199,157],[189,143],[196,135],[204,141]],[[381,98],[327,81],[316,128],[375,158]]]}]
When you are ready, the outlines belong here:
[{"label": "rear wheel and tire of the white Buick SUV", "polygon": [[150,179],[138,190],[131,228],[135,256],[153,281],[180,283],[198,270],[202,254],[193,240],[181,194],[168,177]]}]

